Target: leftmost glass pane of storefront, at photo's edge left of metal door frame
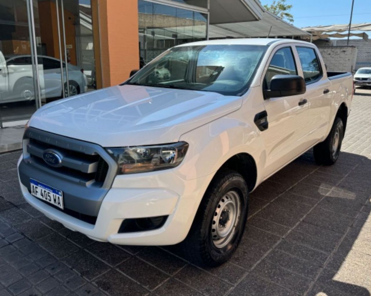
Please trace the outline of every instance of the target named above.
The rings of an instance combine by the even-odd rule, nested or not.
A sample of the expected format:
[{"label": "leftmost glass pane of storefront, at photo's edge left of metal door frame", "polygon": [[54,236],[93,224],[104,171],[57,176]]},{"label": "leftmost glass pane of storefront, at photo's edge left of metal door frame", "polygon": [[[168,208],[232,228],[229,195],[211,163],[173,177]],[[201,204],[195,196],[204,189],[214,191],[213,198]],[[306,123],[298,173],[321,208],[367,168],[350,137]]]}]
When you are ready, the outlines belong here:
[{"label": "leftmost glass pane of storefront, at photo's edge left of metal door frame", "polygon": [[27,3],[0,0],[0,123],[35,112]]}]

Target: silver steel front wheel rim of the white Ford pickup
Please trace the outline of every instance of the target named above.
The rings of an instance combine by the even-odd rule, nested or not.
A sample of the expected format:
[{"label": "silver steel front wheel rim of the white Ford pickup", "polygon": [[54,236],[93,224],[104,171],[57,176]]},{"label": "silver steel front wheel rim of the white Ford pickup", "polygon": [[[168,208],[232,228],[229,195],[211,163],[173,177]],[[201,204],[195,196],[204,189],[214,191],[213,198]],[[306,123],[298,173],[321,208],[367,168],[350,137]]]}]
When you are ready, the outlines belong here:
[{"label": "silver steel front wheel rim of the white Ford pickup", "polygon": [[221,249],[233,239],[240,220],[240,197],[236,191],[229,191],[222,198],[214,211],[211,223],[211,236],[214,246]]}]

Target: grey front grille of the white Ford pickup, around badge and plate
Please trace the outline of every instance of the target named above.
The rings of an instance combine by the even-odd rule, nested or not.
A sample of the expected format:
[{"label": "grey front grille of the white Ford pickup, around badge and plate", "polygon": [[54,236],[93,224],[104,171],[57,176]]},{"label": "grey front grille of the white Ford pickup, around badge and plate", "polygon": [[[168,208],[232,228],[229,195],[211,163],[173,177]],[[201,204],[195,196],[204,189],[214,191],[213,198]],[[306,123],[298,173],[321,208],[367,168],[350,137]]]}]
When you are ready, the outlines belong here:
[{"label": "grey front grille of the white Ford pickup, around badge and plate", "polygon": [[[45,152],[54,152],[57,167],[47,163]],[[63,210],[95,224],[101,203],[116,176],[117,164],[101,146],[29,127],[23,137],[19,178],[30,191],[30,179],[63,191]],[[50,207],[52,204],[47,203]]]}]

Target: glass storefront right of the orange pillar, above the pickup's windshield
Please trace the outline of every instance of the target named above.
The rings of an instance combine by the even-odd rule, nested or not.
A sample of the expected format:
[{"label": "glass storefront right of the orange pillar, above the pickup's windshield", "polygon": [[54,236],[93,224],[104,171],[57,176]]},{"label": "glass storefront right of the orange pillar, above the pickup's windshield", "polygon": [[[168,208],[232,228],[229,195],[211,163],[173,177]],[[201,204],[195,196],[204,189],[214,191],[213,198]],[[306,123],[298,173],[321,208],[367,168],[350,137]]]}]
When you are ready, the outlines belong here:
[{"label": "glass storefront right of the orange pillar, above the pickup's windshield", "polygon": [[[174,0],[174,3],[206,5],[204,0]],[[207,14],[138,0],[140,59],[150,62],[175,45],[205,40]]]}]

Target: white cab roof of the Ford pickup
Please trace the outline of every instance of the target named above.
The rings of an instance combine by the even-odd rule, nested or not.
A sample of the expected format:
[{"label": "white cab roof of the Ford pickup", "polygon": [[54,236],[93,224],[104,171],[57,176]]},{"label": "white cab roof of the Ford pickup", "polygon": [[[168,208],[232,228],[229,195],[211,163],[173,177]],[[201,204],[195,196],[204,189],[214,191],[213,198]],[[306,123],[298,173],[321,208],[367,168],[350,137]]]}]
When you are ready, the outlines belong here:
[{"label": "white cab roof of the Ford pickup", "polygon": [[204,40],[204,41],[197,41],[191,43],[184,43],[181,45],[177,45],[176,47],[180,46],[194,46],[194,45],[270,45],[280,44],[280,43],[301,43],[312,45],[313,43],[300,41],[300,40],[292,40],[292,39],[281,39],[281,38],[236,38],[236,39],[215,39],[215,40]]}]

